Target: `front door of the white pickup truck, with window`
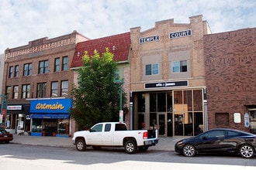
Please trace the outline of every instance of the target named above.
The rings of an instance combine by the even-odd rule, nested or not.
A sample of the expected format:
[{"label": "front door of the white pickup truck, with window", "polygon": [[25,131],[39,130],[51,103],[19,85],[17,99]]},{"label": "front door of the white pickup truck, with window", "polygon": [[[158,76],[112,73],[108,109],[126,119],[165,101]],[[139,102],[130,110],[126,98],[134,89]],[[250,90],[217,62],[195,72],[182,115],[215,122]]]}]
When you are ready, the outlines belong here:
[{"label": "front door of the white pickup truck, with window", "polygon": [[96,124],[92,127],[87,135],[87,145],[102,145],[102,128],[103,124]]}]

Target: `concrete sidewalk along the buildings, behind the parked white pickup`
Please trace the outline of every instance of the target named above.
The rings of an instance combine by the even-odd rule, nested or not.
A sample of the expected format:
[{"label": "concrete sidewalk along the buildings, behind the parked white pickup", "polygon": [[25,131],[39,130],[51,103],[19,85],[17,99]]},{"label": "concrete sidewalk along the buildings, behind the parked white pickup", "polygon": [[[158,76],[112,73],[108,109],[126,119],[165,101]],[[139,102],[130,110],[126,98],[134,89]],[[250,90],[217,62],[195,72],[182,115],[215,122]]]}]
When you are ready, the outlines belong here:
[{"label": "concrete sidewalk along the buildings, behind the parked white pickup", "polygon": [[[175,151],[175,143],[182,139],[182,137],[161,137],[157,145],[150,147],[150,150],[157,151]],[[10,143],[22,144],[22,145],[37,145],[37,146],[52,146],[52,147],[64,147],[75,148],[71,138],[58,138],[58,137],[43,137],[43,136],[26,136],[13,134],[13,141]]]}]

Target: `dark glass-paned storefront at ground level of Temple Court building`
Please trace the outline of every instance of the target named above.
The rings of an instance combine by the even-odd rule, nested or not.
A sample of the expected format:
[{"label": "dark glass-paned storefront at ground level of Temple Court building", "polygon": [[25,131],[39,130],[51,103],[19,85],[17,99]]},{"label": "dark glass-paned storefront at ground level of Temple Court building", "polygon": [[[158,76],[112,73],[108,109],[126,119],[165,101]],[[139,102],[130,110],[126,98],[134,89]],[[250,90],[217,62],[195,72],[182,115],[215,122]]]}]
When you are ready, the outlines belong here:
[{"label": "dark glass-paned storefront at ground level of Temple Court building", "polygon": [[156,128],[163,136],[191,136],[204,130],[203,89],[134,93],[134,124]]}]

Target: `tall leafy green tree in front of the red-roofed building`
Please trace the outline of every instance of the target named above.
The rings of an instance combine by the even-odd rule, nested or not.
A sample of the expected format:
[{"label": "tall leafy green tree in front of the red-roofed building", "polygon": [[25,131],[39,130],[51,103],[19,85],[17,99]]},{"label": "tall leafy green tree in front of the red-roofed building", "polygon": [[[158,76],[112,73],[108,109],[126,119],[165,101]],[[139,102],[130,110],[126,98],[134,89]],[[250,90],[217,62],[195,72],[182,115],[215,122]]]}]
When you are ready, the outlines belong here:
[{"label": "tall leafy green tree in front of the red-roofed building", "polygon": [[[85,52],[84,66],[78,70],[78,86],[73,86],[71,117],[79,130],[90,128],[101,121],[119,121],[120,83],[115,83],[117,63],[106,48],[102,56],[95,50],[93,56]],[[123,92],[123,104],[126,94]],[[122,104],[122,105],[123,105]]]}]

